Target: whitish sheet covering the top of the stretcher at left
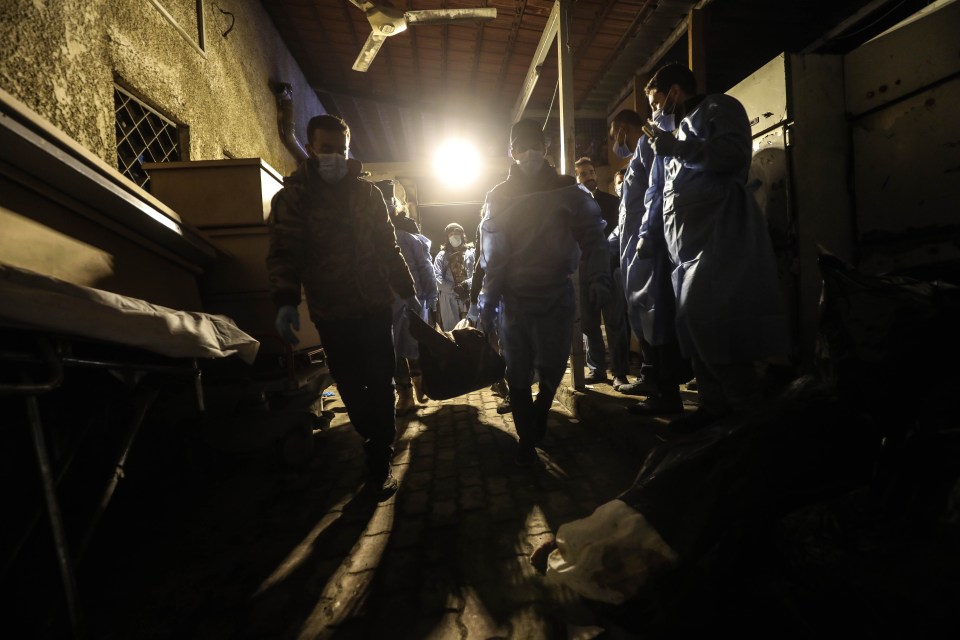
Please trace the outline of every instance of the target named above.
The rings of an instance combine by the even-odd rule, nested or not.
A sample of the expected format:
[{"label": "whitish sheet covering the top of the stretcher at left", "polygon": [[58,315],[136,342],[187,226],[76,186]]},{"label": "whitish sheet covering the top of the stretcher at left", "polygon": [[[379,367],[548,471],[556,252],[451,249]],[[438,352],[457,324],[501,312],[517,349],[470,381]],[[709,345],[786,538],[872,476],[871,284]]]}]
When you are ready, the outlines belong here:
[{"label": "whitish sheet covering the top of the stretcher at left", "polygon": [[177,311],[0,264],[0,323],[130,345],[173,358],[252,363],[260,343],[227,316]]}]

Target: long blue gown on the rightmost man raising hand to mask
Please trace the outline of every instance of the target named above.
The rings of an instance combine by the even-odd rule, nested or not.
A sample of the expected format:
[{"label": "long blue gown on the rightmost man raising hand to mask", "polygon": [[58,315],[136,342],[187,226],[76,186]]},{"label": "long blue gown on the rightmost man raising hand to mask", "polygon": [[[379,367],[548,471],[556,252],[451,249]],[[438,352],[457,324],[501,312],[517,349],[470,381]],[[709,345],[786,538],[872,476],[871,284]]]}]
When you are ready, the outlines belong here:
[{"label": "long blue gown on the rightmost man raising hand to mask", "polygon": [[663,224],[685,356],[738,363],[789,352],[787,317],[766,222],[747,191],[746,111],[710,95],[680,123],[664,162]]}]

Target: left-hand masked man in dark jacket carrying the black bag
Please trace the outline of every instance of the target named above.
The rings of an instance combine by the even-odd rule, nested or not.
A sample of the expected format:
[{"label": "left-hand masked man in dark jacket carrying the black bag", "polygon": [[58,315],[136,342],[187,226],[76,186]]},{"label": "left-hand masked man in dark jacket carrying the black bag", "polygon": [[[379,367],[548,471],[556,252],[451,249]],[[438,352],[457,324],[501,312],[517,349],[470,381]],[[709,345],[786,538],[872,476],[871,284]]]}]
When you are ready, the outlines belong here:
[{"label": "left-hand masked man in dark jacket carrying the black bag", "polygon": [[284,181],[270,212],[267,269],[277,330],[291,344],[301,286],[354,428],[365,438],[368,486],[396,489],[391,305],[416,302],[383,195],[347,159],[350,129],[321,115],[307,127],[310,158]]}]

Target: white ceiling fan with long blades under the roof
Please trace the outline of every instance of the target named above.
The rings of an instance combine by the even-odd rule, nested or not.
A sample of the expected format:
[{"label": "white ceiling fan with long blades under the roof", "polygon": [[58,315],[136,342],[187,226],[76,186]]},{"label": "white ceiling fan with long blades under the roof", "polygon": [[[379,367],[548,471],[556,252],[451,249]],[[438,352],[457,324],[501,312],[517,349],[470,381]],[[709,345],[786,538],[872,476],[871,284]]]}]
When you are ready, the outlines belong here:
[{"label": "white ceiling fan with long blades under the roof", "polygon": [[370,35],[353,63],[354,71],[366,71],[373,58],[380,51],[384,40],[407,30],[410,25],[418,24],[455,24],[458,22],[477,22],[493,20],[496,9],[425,9],[423,11],[403,11],[389,4],[375,4],[361,0],[350,0],[350,4],[367,14],[370,23]]}]

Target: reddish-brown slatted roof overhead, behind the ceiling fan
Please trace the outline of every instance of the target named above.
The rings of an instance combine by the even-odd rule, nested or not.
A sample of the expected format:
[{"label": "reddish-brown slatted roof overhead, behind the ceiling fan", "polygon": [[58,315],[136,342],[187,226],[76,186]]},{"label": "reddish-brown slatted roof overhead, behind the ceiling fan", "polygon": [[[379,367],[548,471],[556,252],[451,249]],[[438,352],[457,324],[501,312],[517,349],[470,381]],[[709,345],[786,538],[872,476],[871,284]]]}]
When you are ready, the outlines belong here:
[{"label": "reddish-brown slatted roof overhead, behind the ceiling fan", "polygon": [[[360,2],[360,5],[371,3]],[[379,3],[388,4],[388,3]],[[503,140],[553,0],[406,0],[397,11],[495,8],[494,20],[413,23],[386,37],[365,72],[354,63],[371,21],[347,0],[263,0],[281,37],[332,113],[354,130],[365,162],[418,160],[464,130],[503,155]],[[684,24],[705,13],[708,91],[724,91],[781,51],[848,51],[923,0],[577,0],[571,7],[573,106],[605,119],[637,73],[687,60]],[[556,44],[525,113],[557,115]],[[552,105],[552,109],[551,109]]]}]

